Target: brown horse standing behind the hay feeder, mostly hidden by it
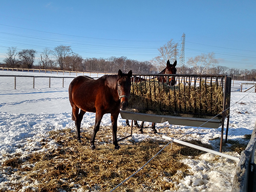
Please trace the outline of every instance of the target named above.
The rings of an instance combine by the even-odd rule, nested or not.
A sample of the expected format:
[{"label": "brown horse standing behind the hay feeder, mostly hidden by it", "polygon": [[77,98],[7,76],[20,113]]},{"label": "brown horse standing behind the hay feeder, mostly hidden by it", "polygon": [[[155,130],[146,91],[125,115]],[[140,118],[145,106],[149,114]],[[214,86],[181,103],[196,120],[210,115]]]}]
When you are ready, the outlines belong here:
[{"label": "brown horse standing behind the hay feeder, mostly hidden by it", "polygon": [[[177,72],[177,69],[175,68],[176,65],[177,65],[177,60],[174,61],[173,65],[170,64],[170,61],[169,61],[169,60],[167,60],[167,62],[166,62],[166,68],[164,68],[164,70],[161,71],[161,72],[158,73],[158,74],[166,74],[166,75],[167,75],[167,74],[176,74],[176,72]],[[170,78],[169,81],[167,81],[167,78],[168,78],[167,76],[158,76],[157,78],[158,78],[158,81],[159,81],[159,82],[162,82],[162,83],[169,82],[169,85],[170,85],[170,86],[174,86],[175,83],[176,83],[175,77]],[[142,80],[143,80],[143,79],[140,78],[140,77],[133,78],[133,82],[140,82],[140,81],[142,81]],[[125,122],[126,122],[126,126],[130,126],[128,119],[126,119]],[[141,122],[141,125],[140,125],[140,126],[139,126],[139,124],[138,124],[138,122],[137,122],[136,120],[134,121],[134,124],[135,124],[137,127],[139,127],[139,133],[143,133],[144,121]],[[154,123],[154,122],[152,123],[152,130],[153,130],[154,133],[157,133],[157,130],[156,130],[156,123]]]}]

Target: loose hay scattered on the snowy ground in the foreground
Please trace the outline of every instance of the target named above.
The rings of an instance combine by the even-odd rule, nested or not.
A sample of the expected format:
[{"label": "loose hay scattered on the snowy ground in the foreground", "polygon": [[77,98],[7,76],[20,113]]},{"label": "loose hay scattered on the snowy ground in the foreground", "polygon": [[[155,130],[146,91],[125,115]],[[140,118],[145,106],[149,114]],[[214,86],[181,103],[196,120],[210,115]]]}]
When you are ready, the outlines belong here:
[{"label": "loose hay scattered on the snowy ground in the foreground", "polygon": [[[129,132],[122,127],[121,132]],[[150,160],[167,143],[147,139],[135,143],[132,139],[119,142],[120,150],[114,150],[110,127],[101,127],[96,138],[96,150],[90,150],[91,133],[82,132],[82,143],[77,142],[72,130],[52,131],[50,136],[41,140],[44,153],[33,153],[21,160],[10,158],[2,166],[16,168],[20,175],[20,183],[13,183],[19,191],[23,185],[30,185],[25,191],[72,191],[83,188],[84,191],[110,191],[127,177]],[[49,145],[54,141],[57,145]],[[189,152],[189,153],[188,153]],[[164,191],[174,189],[174,182],[179,181],[177,170],[187,175],[188,167],[181,163],[186,156],[199,155],[201,152],[193,148],[173,143],[147,164],[138,174],[120,186],[117,191]],[[26,181],[22,181],[26,178]],[[165,178],[165,179],[163,179]],[[173,182],[167,182],[172,180]],[[26,184],[25,184],[26,183]],[[36,183],[36,184],[33,184]],[[7,190],[8,191],[8,190]]]}]

